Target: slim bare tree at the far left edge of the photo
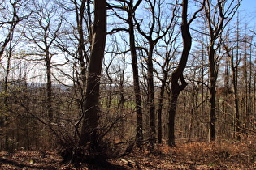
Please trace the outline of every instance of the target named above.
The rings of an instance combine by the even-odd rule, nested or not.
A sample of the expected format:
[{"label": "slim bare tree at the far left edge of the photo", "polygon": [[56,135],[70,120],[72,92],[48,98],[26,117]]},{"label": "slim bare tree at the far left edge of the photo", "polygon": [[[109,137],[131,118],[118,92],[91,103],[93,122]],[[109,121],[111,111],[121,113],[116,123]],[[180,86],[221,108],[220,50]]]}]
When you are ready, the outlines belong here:
[{"label": "slim bare tree at the far left edge of the photo", "polygon": [[[9,99],[10,94],[10,84],[19,83],[20,79],[17,79],[15,76],[11,76],[11,72],[14,72],[14,67],[12,66],[13,58],[15,57],[15,50],[18,49],[21,41],[21,36],[19,30],[19,24],[23,23],[29,18],[33,11],[28,11],[26,9],[28,2],[24,0],[15,0],[15,1],[2,1],[0,3],[0,65],[4,71],[2,71],[3,82],[2,82],[2,94],[3,94],[3,104],[1,106],[0,113],[0,127],[7,128],[7,122],[10,120],[10,117],[13,116],[11,113],[11,103]],[[22,29],[22,27],[20,27]],[[20,58],[20,57],[19,57]],[[20,60],[16,58],[16,62],[19,63]],[[19,63],[20,64],[20,63]],[[17,64],[19,66],[19,64]],[[12,77],[12,78],[11,78]],[[5,129],[4,131],[7,131]],[[2,133],[1,135],[1,148],[8,147],[8,138],[10,134]],[[5,144],[3,144],[3,142]]]}]

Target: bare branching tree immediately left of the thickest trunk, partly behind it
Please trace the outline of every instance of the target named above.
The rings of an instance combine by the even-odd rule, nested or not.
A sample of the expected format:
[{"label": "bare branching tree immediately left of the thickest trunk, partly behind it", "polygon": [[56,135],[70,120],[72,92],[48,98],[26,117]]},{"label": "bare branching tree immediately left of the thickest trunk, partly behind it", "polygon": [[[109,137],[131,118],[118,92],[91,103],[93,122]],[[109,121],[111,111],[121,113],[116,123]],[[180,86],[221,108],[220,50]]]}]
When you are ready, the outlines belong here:
[{"label": "bare branching tree immediately left of the thickest trunk, partly behind it", "polygon": [[[88,78],[89,55],[91,53],[93,29],[92,1],[89,0],[63,0],[58,1],[59,6],[65,11],[63,15],[63,31],[57,37],[58,48],[66,54],[67,65],[72,74],[66,73],[65,69],[59,70],[60,74],[72,81],[74,90],[73,98],[76,100],[79,120],[76,121],[76,135],[80,136],[79,126],[82,120],[84,103],[86,99],[86,83]],[[74,22],[74,20],[76,22]],[[56,78],[57,79],[57,78]],[[70,84],[66,83],[66,86]]]}]

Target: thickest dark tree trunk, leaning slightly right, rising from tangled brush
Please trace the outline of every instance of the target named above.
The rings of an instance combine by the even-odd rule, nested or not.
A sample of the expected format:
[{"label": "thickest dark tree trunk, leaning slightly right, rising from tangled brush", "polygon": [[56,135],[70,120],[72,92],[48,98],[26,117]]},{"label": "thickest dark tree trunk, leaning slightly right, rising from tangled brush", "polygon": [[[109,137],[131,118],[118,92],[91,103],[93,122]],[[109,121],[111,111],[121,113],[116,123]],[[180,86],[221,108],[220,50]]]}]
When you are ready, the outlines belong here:
[{"label": "thickest dark tree trunk, leaning slightly right, rising from tangled brush", "polygon": [[[91,147],[98,144],[98,117],[99,117],[99,85],[102,73],[102,62],[106,45],[106,0],[94,1],[92,49],[89,61],[89,75],[86,86],[84,103],[84,117],[80,134],[80,145],[87,143]],[[92,148],[93,149],[93,148]]]}]

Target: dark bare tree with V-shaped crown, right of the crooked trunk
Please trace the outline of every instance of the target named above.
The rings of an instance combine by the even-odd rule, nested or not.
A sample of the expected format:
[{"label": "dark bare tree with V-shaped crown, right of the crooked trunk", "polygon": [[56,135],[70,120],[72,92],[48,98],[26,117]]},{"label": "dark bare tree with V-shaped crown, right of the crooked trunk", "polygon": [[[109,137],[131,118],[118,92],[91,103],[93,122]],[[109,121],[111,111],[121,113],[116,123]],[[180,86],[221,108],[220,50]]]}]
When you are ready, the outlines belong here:
[{"label": "dark bare tree with V-shaped crown, right of the crooked trunk", "polygon": [[223,32],[229,21],[235,15],[241,0],[232,0],[231,2],[217,0],[212,2],[206,0],[204,7],[206,23],[209,35],[208,60],[210,70],[210,129],[209,140],[214,141],[216,138],[215,122],[216,122],[216,81],[218,77],[218,67],[216,51],[219,48],[219,35]]}]

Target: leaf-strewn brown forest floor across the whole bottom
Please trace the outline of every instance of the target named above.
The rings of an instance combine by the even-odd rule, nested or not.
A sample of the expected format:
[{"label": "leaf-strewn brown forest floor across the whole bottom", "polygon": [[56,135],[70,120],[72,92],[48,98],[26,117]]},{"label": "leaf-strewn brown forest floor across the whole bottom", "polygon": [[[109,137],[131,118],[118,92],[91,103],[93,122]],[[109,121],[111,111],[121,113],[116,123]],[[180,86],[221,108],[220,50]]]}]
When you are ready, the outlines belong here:
[{"label": "leaf-strewn brown forest floor across the whole bottom", "polygon": [[156,146],[154,152],[133,151],[108,166],[63,163],[55,151],[0,151],[0,169],[256,169],[256,143],[187,142]]}]

